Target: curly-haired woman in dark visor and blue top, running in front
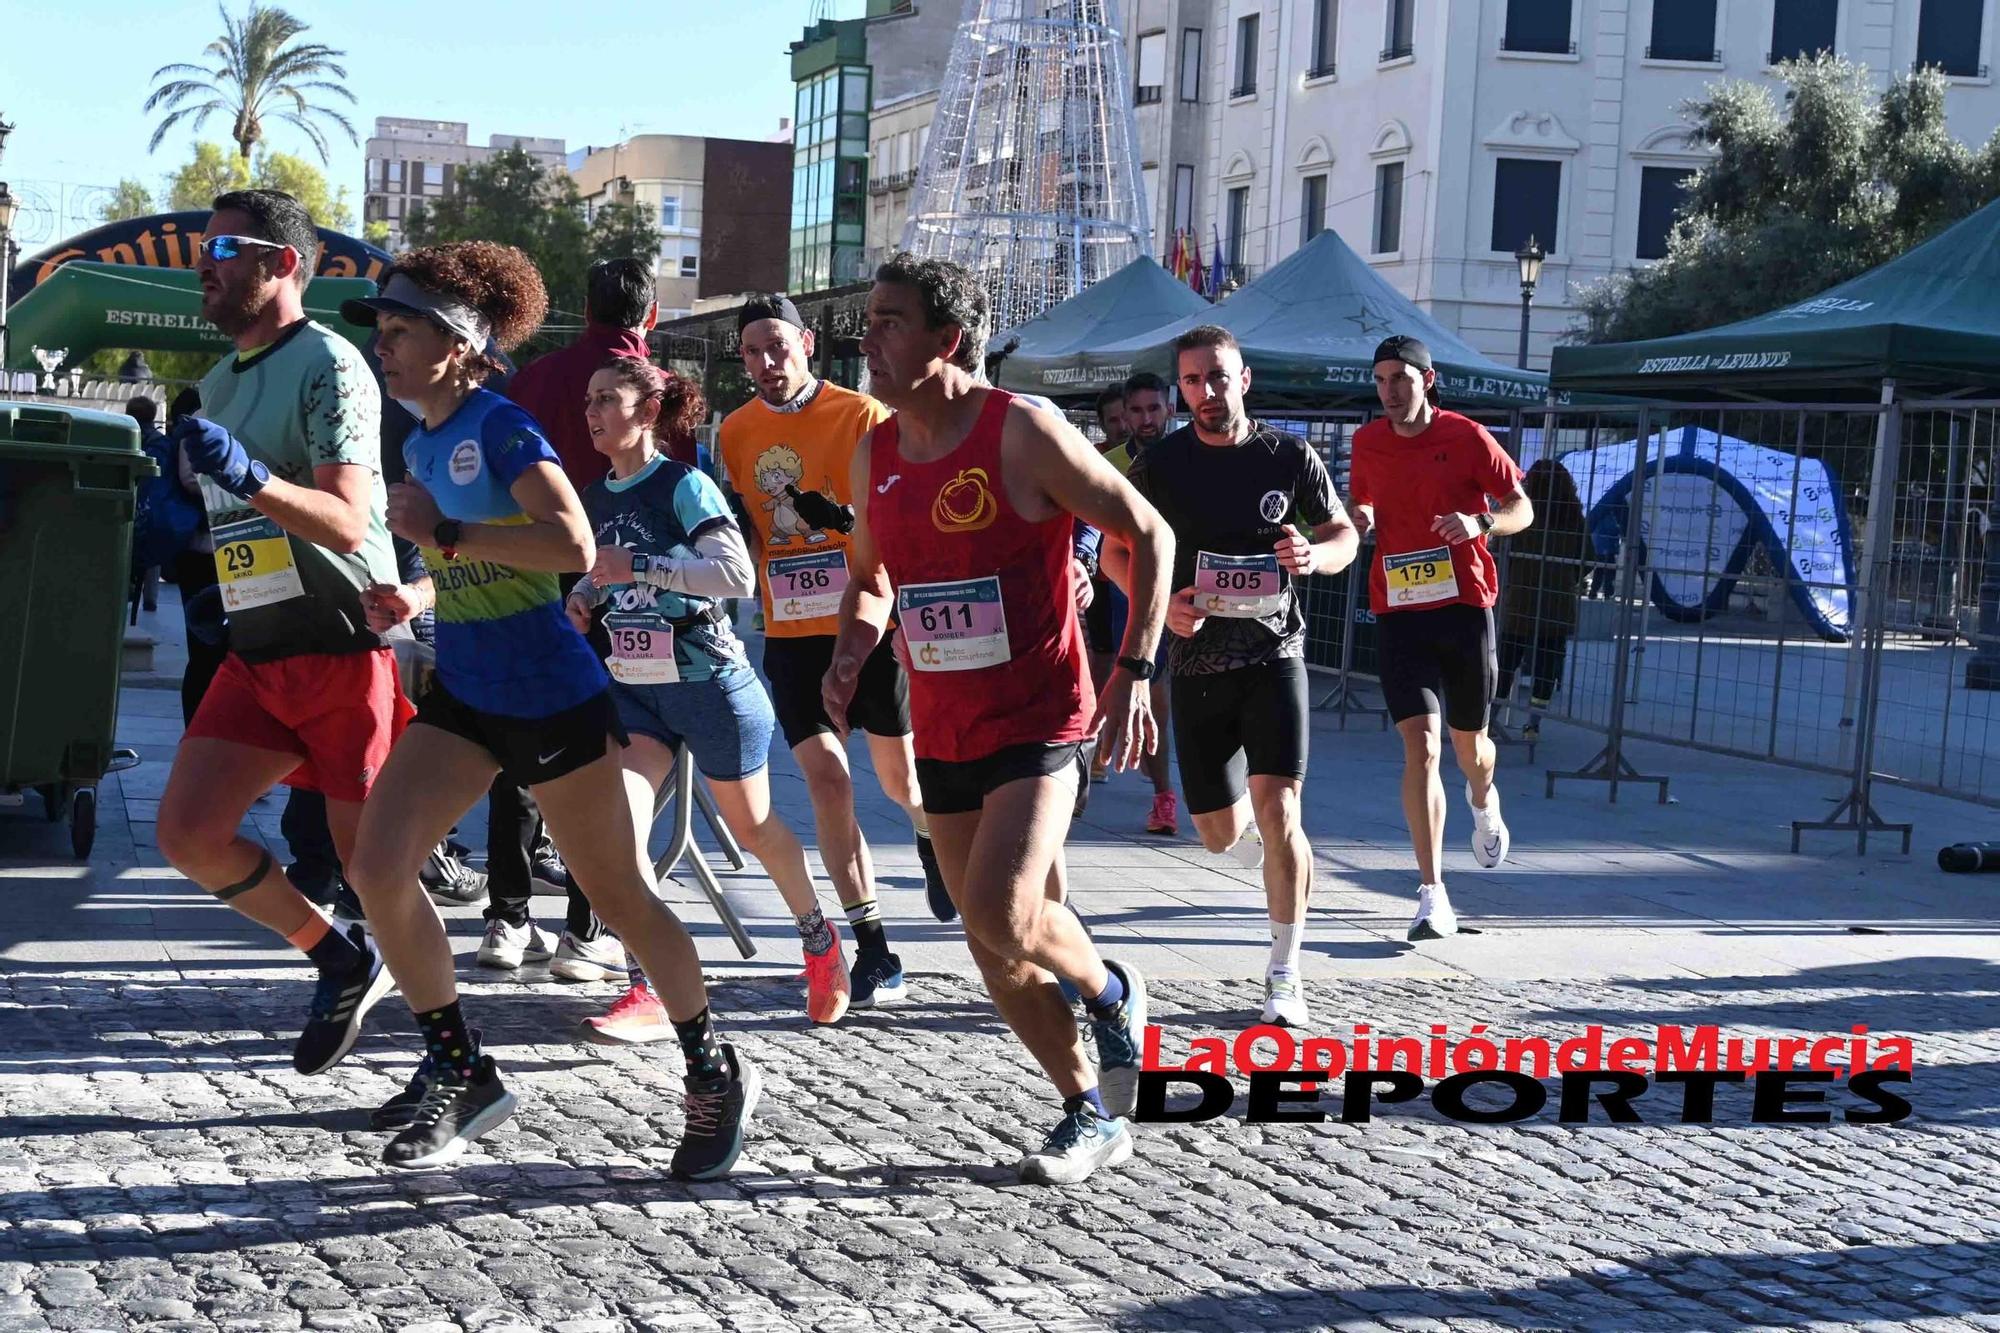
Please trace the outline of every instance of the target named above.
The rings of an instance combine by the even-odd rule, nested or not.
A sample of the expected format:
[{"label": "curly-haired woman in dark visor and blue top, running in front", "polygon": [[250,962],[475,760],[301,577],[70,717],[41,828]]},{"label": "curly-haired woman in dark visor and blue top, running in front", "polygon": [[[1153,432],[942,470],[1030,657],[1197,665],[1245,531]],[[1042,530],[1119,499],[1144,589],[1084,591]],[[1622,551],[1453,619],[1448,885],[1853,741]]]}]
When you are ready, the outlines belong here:
[{"label": "curly-haired woman in dark visor and blue top, running in front", "polygon": [[[518,346],[546,308],[528,256],[482,240],[404,254],[380,296],[342,306],[376,326],[382,382],[420,420],[402,446],[410,476],[390,488],[388,524],[422,548],[438,610],[436,679],[376,779],[380,799],[362,809],[348,873],[426,1047],[410,1087],[376,1113],[378,1127],[400,1127],[382,1159],[448,1163],[514,1113],[460,1011],[444,923],[416,879],[504,771],[534,795],[598,915],[672,983],[688,1057],[674,1173],[712,1179],[742,1149],[758,1077],[716,1041],[694,941],[654,897],[626,807],[610,679],[562,612],[556,574],[582,572],[596,554],[584,504],[536,420],[482,388],[494,370],[488,340]],[[420,602],[410,586],[372,588],[370,622],[396,624]]]}]

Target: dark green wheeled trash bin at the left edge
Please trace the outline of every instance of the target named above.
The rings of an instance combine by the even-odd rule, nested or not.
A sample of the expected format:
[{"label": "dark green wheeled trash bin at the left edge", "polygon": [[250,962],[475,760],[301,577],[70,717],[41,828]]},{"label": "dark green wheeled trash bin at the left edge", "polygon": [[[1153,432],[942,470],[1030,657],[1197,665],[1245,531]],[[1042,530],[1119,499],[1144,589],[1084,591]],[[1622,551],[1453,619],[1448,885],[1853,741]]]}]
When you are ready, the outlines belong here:
[{"label": "dark green wheeled trash bin at the left edge", "polygon": [[90,857],[112,747],[138,486],[130,416],[0,402],[0,793],[42,793]]}]

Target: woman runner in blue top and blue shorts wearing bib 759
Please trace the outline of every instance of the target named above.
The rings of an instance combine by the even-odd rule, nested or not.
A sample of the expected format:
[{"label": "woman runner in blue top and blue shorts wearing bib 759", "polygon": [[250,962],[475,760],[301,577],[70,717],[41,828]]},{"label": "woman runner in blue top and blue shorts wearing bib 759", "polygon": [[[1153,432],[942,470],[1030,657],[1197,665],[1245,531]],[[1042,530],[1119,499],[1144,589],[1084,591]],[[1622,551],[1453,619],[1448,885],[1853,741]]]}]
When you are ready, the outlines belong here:
[{"label": "woman runner in blue top and blue shorts wearing bib 759", "polygon": [[[838,1023],[850,999],[840,931],[820,913],[806,849],[770,809],[776,715],[720,606],[724,596],[756,594],[750,552],[722,488],[656,444],[662,430],[692,432],[704,412],[698,386],[632,356],[590,376],[584,416],[612,474],[584,492],[598,558],[590,576],[570,588],[568,612],[588,632],[592,610],[604,606],[640,855],[674,751],[686,745],[722,821],[792,911],[806,951],[806,1013],[814,1023]],[[894,995],[876,987],[874,1003],[886,999]],[[660,1041],[670,1033],[638,969],[624,999],[586,1023],[604,1041]]]}]

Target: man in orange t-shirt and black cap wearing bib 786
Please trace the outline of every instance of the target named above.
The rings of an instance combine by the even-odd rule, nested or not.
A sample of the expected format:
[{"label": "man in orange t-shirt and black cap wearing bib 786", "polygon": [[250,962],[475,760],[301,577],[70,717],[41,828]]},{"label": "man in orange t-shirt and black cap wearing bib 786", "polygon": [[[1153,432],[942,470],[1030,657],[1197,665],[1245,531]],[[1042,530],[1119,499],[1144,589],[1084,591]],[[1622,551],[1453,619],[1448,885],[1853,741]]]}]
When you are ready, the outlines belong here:
[{"label": "man in orange t-shirt and black cap wearing bib 786", "polygon": [[[874,861],[854,819],[848,753],[820,703],[820,681],[834,660],[840,596],[848,586],[850,462],[854,446],[888,418],[888,408],[812,376],[812,330],[788,298],[752,298],[738,312],[736,330],[758,396],[722,420],[722,466],[760,568],[764,675],[778,729],[806,775],[820,861],[854,929],[852,1005],[868,1009],[904,997],[902,961],[888,951]],[[950,921],[956,909],[944,893],[916,785],[910,683],[888,638],[862,666],[844,721],[866,733],[882,793],[916,829],[930,911]]]}]

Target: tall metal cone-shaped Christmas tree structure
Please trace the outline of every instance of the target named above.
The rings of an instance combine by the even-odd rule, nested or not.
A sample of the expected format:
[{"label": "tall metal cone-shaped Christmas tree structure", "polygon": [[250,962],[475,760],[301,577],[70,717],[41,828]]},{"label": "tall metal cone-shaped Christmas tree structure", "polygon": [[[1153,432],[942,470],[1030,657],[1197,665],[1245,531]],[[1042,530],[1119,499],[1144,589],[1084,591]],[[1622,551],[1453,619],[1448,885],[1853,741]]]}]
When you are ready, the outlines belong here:
[{"label": "tall metal cone-shaped Christmas tree structure", "polygon": [[1152,252],[1112,0],[966,0],[906,250],[958,260],[1012,328]]}]

